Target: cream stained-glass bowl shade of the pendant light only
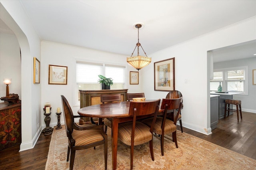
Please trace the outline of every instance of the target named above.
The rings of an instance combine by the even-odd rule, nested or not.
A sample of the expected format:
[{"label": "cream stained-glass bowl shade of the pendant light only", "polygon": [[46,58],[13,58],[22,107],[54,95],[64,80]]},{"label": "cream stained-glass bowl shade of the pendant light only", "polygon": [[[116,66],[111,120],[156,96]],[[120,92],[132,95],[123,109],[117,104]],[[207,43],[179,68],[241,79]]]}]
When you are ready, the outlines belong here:
[{"label": "cream stained-glass bowl shade of the pendant light only", "polygon": [[140,70],[150,64],[151,58],[138,55],[136,57],[128,57],[127,62],[132,65],[132,67]]}]

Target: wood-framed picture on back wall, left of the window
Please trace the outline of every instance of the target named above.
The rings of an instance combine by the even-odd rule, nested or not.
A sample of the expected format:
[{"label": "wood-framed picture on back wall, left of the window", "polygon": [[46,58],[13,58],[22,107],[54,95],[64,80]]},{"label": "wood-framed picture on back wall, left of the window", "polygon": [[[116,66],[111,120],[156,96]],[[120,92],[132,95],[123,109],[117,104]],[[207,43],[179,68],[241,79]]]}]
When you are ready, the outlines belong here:
[{"label": "wood-framed picture on back wall, left of the window", "polygon": [[49,65],[49,85],[66,85],[68,81],[68,67]]}]

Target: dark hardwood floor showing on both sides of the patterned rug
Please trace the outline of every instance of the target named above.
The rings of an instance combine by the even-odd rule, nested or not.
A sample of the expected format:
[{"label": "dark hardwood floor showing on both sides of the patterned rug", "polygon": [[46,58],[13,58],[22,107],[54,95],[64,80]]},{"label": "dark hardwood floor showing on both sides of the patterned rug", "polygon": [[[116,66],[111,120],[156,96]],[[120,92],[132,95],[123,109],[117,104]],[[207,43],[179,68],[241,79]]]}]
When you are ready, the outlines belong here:
[{"label": "dark hardwood floor showing on both sides of the patterned rug", "polygon": [[[239,122],[236,114],[221,119],[208,136],[187,128],[183,131],[256,160],[256,114],[243,112],[242,116]],[[16,145],[1,150],[0,170],[44,170],[50,140],[51,135],[41,134],[33,149],[19,152]]]}]

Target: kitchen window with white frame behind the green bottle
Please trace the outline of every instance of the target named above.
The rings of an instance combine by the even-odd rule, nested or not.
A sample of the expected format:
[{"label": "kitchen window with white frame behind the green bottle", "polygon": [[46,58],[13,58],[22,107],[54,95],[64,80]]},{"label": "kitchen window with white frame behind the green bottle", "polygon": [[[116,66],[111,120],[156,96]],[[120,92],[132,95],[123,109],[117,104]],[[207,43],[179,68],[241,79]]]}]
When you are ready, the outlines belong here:
[{"label": "kitchen window with white frame behind the green bottle", "polygon": [[234,67],[214,70],[213,79],[210,80],[210,91],[242,92],[248,95],[248,67]]}]

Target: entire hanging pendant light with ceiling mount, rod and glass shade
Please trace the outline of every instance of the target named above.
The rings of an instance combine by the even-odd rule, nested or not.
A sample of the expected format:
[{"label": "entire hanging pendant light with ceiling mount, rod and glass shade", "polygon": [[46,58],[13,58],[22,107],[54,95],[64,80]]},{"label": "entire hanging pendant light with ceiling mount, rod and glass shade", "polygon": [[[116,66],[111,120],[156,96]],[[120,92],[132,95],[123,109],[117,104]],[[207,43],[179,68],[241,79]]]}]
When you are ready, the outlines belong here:
[{"label": "entire hanging pendant light with ceiling mount, rod and glass shade", "polygon": [[[140,42],[139,42],[139,29],[142,27],[142,25],[141,25],[141,24],[136,24],[135,27],[138,28],[138,43],[136,43],[136,47],[137,47],[137,49],[138,49],[138,55],[135,56],[135,57],[132,57],[132,55],[133,55],[133,53],[134,53],[134,51],[135,51],[135,49],[136,49],[136,47],[135,47],[134,50],[133,50],[133,52],[132,52],[131,57],[128,57],[128,58],[127,58],[127,62],[128,62],[130,65],[132,65],[132,67],[134,67],[135,69],[137,69],[137,70],[139,71],[139,70],[142,69],[143,67],[145,67],[145,66],[147,66],[147,65],[150,64],[151,58],[149,58],[149,57],[146,55],[144,49],[142,48],[142,46],[141,46],[141,44],[140,44]],[[142,50],[143,50],[144,54],[146,55],[146,57],[140,55],[140,53],[139,53],[139,47],[142,48]]]}]

